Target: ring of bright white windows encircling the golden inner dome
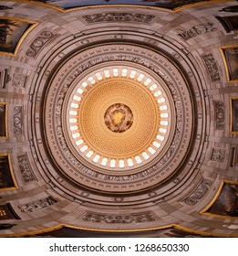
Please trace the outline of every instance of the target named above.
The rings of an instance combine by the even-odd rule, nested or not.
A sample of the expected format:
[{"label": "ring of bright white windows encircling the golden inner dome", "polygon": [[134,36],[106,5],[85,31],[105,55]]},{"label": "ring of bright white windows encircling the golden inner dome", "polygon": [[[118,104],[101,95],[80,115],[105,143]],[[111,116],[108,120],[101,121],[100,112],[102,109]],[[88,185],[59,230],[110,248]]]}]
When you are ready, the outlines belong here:
[{"label": "ring of bright white windows encircling the golden inner dome", "polygon": [[[82,101],[82,94],[85,88],[88,86],[94,86],[98,81],[118,77],[139,81],[153,95],[160,110],[160,127],[152,144],[150,144],[150,146],[140,154],[133,155],[126,159],[109,158],[104,155],[98,155],[97,152],[93,152],[93,150],[88,147],[88,144],[86,144],[78,130],[78,108],[80,106],[80,101]],[[165,92],[162,90],[158,82],[140,69],[114,67],[102,69],[101,71],[98,70],[93,75],[90,74],[78,84],[77,90],[71,95],[69,100],[67,122],[69,123],[69,133],[74,141],[75,147],[81,155],[85,155],[88,160],[91,160],[93,163],[101,166],[108,166],[110,168],[119,167],[122,169],[125,167],[140,165],[144,161],[149,160],[152,155],[155,155],[160,149],[161,144],[164,144],[166,141],[166,137],[168,137],[171,112],[169,101],[166,100],[166,98]]]}]

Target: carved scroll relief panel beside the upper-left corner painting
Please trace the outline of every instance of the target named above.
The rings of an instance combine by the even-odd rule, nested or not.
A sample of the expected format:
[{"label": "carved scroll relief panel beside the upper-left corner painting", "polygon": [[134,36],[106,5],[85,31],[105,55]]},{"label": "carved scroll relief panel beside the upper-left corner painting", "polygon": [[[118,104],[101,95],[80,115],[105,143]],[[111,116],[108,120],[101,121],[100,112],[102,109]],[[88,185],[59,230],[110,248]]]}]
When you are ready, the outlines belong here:
[{"label": "carved scroll relief panel beside the upper-left corner painting", "polygon": [[31,43],[30,48],[26,51],[26,55],[28,57],[35,58],[37,53],[43,48],[47,42],[53,38],[56,37],[57,34],[51,32],[51,31],[43,31],[36,39]]}]

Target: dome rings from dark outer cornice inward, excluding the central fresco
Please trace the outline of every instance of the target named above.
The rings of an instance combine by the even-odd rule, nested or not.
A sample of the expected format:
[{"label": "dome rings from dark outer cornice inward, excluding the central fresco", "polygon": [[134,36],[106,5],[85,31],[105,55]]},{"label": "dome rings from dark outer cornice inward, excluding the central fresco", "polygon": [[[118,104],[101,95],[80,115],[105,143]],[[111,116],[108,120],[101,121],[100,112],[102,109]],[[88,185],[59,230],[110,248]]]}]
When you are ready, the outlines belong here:
[{"label": "dome rings from dark outer cornice inward, excluding the central fresco", "polygon": [[[126,44],[85,48],[62,60],[46,95],[47,152],[76,184],[140,191],[167,180],[186,159],[193,129],[190,90],[160,52]],[[105,113],[117,103],[133,115],[123,133],[105,124]]]}]

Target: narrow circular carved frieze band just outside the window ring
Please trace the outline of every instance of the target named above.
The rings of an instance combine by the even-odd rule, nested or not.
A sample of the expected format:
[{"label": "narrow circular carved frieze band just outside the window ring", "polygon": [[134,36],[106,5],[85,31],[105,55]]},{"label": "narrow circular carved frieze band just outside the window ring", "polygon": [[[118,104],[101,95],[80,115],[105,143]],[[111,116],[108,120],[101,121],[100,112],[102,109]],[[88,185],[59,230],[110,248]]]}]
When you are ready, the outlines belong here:
[{"label": "narrow circular carved frieze band just outside the window ring", "polygon": [[[109,59],[109,60],[108,60]],[[129,57],[129,56],[116,56],[113,58],[99,58],[99,59],[93,59],[90,61],[90,64],[88,65],[85,64],[83,66],[81,66],[80,68],[78,68],[75,71],[75,74],[80,74],[81,72],[85,71],[86,69],[90,68],[91,66],[94,66],[94,63],[101,63],[101,62],[106,62],[106,61],[111,61],[111,60],[124,60],[126,59],[127,61],[131,61],[131,62],[135,62],[135,63],[140,63],[140,64],[146,64],[145,66],[147,68],[152,69],[153,71],[157,70],[157,72],[159,73],[160,77],[162,77],[163,80],[167,81],[167,85],[171,91],[172,97],[173,97],[173,101],[175,102],[175,110],[176,110],[176,118],[177,118],[177,123],[176,123],[176,130],[175,130],[175,134],[171,143],[170,148],[168,149],[167,153],[165,155],[163,155],[163,157],[160,159],[160,161],[153,167],[150,167],[149,169],[139,172],[137,174],[133,174],[133,175],[129,175],[129,176],[113,176],[113,175],[105,175],[105,174],[100,174],[94,170],[89,169],[87,166],[82,165],[78,159],[71,153],[71,151],[69,150],[69,148],[67,147],[67,142],[63,133],[63,128],[62,128],[62,119],[61,119],[61,114],[62,114],[62,106],[63,106],[63,101],[65,99],[65,96],[67,94],[67,90],[71,84],[72,81],[68,81],[65,82],[65,85],[63,87],[63,89],[60,91],[59,93],[59,97],[57,100],[57,109],[56,109],[56,123],[57,123],[57,138],[59,141],[59,144],[61,146],[61,148],[64,149],[64,155],[67,156],[68,159],[70,159],[70,162],[73,165],[77,165],[78,168],[80,169],[80,171],[82,171],[84,174],[87,174],[88,176],[94,176],[97,177],[101,180],[107,180],[107,181],[131,181],[131,180],[137,180],[140,178],[143,178],[145,176],[148,176],[152,173],[154,173],[155,171],[158,171],[158,167],[161,167],[162,165],[164,165],[168,159],[171,158],[171,155],[173,154],[176,144],[178,144],[178,140],[181,137],[181,127],[182,127],[182,110],[181,110],[181,99],[179,97],[179,94],[176,90],[176,88],[172,85],[171,81],[169,80],[169,78],[166,77],[165,74],[163,74],[155,65],[153,65],[152,63],[150,63],[149,61],[145,62],[143,59],[140,58],[133,58],[133,57]],[[70,79],[73,79],[74,76],[71,75]]]}]

